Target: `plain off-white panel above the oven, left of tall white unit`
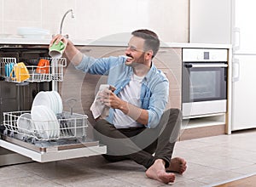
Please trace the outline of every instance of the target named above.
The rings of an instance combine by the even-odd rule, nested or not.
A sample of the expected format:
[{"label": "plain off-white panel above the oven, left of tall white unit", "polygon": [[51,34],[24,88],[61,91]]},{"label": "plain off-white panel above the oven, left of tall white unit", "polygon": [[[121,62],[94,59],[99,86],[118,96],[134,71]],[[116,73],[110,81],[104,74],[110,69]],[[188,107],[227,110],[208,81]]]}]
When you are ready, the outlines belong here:
[{"label": "plain off-white panel above the oven, left of tall white unit", "polygon": [[231,43],[232,0],[190,0],[189,42]]}]

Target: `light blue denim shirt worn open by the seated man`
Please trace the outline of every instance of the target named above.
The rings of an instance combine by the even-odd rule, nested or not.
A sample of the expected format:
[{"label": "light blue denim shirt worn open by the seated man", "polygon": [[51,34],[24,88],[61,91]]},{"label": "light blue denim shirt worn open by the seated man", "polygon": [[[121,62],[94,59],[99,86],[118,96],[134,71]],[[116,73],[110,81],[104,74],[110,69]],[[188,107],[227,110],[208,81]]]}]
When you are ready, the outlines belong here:
[{"label": "light blue denim shirt worn open by the seated man", "polygon": [[[108,57],[95,59],[93,57],[83,57],[76,69],[95,75],[108,76],[108,84],[116,88],[114,94],[125,88],[131,81],[133,69],[125,65],[125,56]],[[152,64],[148,74],[143,78],[141,90],[141,108],[148,111],[148,124],[146,127],[156,127],[160,122],[169,96],[169,82],[162,71]],[[109,110],[107,121],[113,123],[113,110]]]}]

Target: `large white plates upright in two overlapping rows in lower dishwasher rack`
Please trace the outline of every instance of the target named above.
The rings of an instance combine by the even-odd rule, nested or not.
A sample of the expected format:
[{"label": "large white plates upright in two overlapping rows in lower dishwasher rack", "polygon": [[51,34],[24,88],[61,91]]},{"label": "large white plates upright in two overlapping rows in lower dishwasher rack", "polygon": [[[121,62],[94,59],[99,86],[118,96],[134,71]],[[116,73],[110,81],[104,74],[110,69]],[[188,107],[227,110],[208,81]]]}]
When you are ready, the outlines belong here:
[{"label": "large white plates upright in two overlapping rows in lower dishwasher rack", "polygon": [[62,113],[62,100],[55,91],[39,92],[32,103],[32,122],[43,139],[53,139],[60,135],[60,125],[56,114]]}]

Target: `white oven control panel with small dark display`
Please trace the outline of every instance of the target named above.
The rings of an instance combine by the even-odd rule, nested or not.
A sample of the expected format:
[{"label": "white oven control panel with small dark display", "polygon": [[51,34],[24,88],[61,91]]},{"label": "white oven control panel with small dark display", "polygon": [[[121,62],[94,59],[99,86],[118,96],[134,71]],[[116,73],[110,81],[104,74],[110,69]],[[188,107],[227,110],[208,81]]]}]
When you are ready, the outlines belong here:
[{"label": "white oven control panel with small dark display", "polygon": [[183,48],[183,62],[227,62],[228,49]]}]

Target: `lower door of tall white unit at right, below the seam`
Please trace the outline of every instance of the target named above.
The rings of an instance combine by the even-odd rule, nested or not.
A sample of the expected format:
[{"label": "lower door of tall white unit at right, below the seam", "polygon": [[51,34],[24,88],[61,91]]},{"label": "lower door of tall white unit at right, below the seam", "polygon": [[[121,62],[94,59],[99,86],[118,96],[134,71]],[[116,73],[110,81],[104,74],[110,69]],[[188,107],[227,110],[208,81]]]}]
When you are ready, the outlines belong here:
[{"label": "lower door of tall white unit at right, below the seam", "polygon": [[232,130],[256,127],[256,55],[234,55]]}]

